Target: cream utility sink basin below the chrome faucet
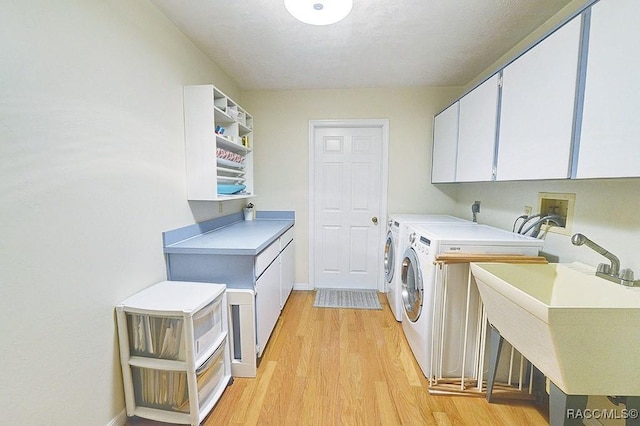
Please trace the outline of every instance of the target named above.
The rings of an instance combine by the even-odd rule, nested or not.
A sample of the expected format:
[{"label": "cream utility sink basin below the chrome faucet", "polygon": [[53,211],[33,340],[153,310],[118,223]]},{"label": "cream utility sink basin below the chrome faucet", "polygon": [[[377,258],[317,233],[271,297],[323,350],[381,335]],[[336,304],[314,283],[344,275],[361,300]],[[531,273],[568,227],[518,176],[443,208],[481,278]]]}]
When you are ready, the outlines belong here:
[{"label": "cream utility sink basin below the chrome faucet", "polygon": [[640,395],[640,289],[581,263],[472,263],[489,322],[568,395]]}]

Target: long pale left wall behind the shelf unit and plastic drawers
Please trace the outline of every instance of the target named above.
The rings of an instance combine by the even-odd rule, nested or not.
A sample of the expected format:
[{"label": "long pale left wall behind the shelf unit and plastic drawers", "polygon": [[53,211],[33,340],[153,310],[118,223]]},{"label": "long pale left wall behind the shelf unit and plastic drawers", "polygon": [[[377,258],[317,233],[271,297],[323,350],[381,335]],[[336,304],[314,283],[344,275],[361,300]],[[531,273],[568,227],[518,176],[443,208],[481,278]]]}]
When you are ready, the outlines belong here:
[{"label": "long pale left wall behind the shelf unit and plastic drawers", "polygon": [[218,212],[186,201],[182,87],[238,90],[146,0],[5,0],[0,40],[0,422],[107,424],[115,304]]}]

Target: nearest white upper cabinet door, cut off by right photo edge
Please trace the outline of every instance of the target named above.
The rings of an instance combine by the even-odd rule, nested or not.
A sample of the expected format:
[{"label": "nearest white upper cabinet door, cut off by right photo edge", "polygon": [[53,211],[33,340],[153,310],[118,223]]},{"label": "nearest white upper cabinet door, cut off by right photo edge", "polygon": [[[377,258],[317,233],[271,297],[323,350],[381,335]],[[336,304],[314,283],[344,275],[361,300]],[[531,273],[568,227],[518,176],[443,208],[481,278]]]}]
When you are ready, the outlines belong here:
[{"label": "nearest white upper cabinet door, cut off by right photo edge", "polygon": [[640,30],[637,0],[591,8],[576,177],[640,176]]}]

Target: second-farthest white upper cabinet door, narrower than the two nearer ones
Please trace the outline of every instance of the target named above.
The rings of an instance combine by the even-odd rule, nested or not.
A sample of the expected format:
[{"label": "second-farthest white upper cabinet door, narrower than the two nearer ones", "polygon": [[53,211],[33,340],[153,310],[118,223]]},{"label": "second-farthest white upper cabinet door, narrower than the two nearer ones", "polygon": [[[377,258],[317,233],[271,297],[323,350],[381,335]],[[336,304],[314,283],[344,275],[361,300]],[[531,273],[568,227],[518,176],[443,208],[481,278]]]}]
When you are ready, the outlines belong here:
[{"label": "second-farthest white upper cabinet door, narrower than the two nearer ones", "polygon": [[490,77],[460,99],[456,182],[493,179],[499,77]]}]

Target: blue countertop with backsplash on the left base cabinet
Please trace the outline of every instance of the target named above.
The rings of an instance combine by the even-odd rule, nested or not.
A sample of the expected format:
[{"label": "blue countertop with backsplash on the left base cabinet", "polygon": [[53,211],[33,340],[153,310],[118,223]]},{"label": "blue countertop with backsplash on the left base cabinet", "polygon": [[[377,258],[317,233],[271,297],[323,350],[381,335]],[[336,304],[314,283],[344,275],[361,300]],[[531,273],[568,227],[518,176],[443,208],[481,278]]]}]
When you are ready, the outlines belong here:
[{"label": "blue countertop with backsplash on the left base cabinet", "polygon": [[257,212],[249,221],[236,213],[164,232],[164,252],[255,256],[294,223],[294,212]]}]

